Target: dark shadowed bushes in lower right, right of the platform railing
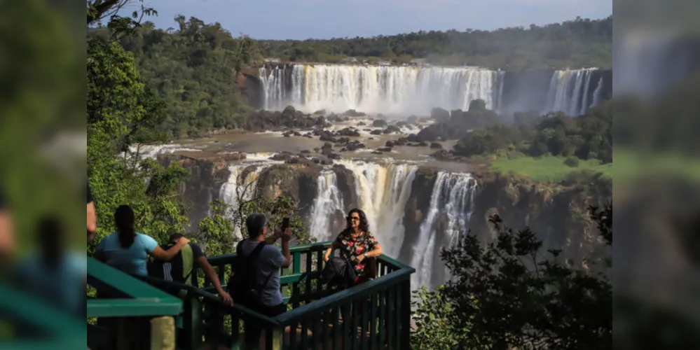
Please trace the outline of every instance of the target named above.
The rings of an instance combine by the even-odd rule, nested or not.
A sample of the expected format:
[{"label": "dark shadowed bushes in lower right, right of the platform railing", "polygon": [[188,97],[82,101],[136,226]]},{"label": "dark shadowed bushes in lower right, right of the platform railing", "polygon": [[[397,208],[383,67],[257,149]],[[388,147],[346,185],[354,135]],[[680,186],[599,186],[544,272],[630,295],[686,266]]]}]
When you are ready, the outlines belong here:
[{"label": "dark shadowed bushes in lower right, right of the platform railing", "polygon": [[[593,209],[612,246],[612,204]],[[558,251],[542,251],[528,229],[514,232],[493,217],[497,235],[484,247],[474,235],[442,252],[453,280],[416,292],[416,349],[610,349],[610,261],[596,271],[569,267]]]}]

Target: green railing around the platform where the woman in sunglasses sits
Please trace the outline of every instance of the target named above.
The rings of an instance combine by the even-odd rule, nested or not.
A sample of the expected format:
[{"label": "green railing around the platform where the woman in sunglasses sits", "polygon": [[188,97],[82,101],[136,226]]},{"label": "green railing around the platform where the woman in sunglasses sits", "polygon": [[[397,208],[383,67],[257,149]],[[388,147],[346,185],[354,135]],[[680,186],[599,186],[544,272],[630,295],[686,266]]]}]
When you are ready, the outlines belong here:
[{"label": "green railing around the platform where the woman in sunglasses sits", "polygon": [[[224,307],[210,281],[198,292],[181,286],[188,295],[198,295],[195,303],[204,307],[202,328],[193,332],[188,349],[196,349],[198,339],[239,349],[243,343],[242,323],[257,321],[265,337],[263,349],[410,349],[412,267],[385,255],[377,259],[377,278],[334,293],[318,281],[323,254],[331,242],[290,248],[293,264],[282,269],[280,284],[286,313],[270,318],[234,304]],[[209,258],[221,283],[228,281],[235,254]],[[201,272],[195,271],[198,276]],[[194,279],[197,281],[198,279]],[[172,286],[172,283],[171,283]],[[172,287],[171,287],[172,288]],[[204,292],[204,293],[203,293]],[[199,293],[199,294],[198,294]],[[208,295],[208,296],[205,296]],[[186,313],[198,313],[197,307]],[[226,321],[226,322],[225,322]],[[226,327],[230,323],[230,329]]]}]

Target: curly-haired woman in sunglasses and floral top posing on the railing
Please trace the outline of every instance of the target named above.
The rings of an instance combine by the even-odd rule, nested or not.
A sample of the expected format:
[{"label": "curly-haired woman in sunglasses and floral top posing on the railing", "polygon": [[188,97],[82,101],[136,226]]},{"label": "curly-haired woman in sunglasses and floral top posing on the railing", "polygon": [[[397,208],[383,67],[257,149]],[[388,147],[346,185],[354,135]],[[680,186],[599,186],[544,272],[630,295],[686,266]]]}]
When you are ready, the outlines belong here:
[{"label": "curly-haired woman in sunglasses and floral top posing on the railing", "polygon": [[341,257],[355,269],[355,284],[376,278],[376,258],[382,255],[382,247],[369,232],[369,223],[364,211],[352,209],[348,214],[348,225],[327,249],[324,261],[328,262],[331,253],[340,249]]}]

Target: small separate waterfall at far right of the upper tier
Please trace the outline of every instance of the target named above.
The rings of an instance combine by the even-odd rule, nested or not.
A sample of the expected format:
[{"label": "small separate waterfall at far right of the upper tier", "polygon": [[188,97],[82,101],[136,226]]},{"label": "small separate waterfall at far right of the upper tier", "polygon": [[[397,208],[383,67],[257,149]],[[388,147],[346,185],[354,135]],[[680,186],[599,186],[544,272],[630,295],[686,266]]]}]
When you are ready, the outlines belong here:
[{"label": "small separate waterfall at far right of the upper tier", "polygon": [[[589,103],[591,78],[596,68],[567,69],[554,71],[549,82],[547,105],[544,113],[561,111],[568,116],[581,116],[589,107],[599,103],[596,92],[593,92],[593,102]],[[603,79],[598,83],[596,91],[600,94]]]}]

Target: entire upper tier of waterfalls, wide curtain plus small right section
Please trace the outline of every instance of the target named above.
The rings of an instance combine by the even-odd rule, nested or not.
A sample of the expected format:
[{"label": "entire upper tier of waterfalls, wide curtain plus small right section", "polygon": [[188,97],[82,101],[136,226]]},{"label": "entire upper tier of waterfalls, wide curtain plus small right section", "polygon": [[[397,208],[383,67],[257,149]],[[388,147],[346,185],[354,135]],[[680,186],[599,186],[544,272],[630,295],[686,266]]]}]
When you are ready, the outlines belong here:
[{"label": "entire upper tier of waterfalls, wide curtain plus small right section", "polygon": [[[600,104],[605,82],[597,72],[594,68],[542,71],[549,74],[549,84],[538,92],[543,99],[537,109],[578,116]],[[466,111],[469,102],[483,99],[489,109],[513,111],[520,95],[533,93],[528,81],[511,81],[519,79],[516,74],[508,78],[505,71],[470,66],[293,64],[262,67],[259,75],[262,108],[273,110],[291,105],[308,112],[355,109],[426,115],[433,107]],[[521,87],[512,87],[516,85]],[[509,86],[515,90],[505,92]]]}]

